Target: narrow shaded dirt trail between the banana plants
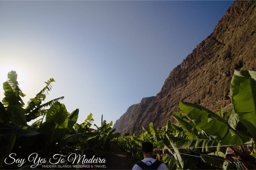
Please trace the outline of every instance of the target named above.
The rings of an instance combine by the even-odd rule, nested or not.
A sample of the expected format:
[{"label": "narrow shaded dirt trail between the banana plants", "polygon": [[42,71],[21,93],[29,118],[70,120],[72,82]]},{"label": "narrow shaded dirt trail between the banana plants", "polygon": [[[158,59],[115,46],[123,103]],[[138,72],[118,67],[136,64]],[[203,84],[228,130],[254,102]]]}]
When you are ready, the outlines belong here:
[{"label": "narrow shaded dirt trail between the banana plants", "polygon": [[132,169],[133,160],[130,156],[127,156],[118,146],[114,149],[114,154],[109,155],[106,158],[106,169]]}]

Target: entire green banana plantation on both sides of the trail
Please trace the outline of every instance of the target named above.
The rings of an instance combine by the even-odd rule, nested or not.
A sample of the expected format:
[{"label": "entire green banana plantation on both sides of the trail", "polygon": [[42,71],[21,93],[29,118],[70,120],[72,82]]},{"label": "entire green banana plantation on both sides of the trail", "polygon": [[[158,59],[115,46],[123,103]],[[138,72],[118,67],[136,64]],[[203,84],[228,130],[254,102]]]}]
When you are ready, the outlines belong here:
[{"label": "entire green banana plantation on both sides of the trail", "polygon": [[[137,162],[143,159],[141,144],[144,141],[153,143],[154,156],[169,169],[256,169],[254,71],[234,72],[230,84],[232,112],[224,112],[220,107],[214,113],[193,103],[180,102],[180,112],[173,113],[178,124],[168,121],[165,127],[155,127],[150,123],[149,128],[142,127],[144,133],[124,136],[111,128],[112,122],[102,122],[100,127],[93,129],[92,114],[78,124],[79,110],[67,112],[65,105],[60,103],[64,97],[44,102],[52,82],[54,79],[45,82],[46,86],[25,106],[22,100],[25,94],[19,89],[16,72],[8,73],[3,83],[5,97],[0,102],[1,169],[71,165],[72,162],[49,160],[55,154],[80,154],[88,147],[104,158],[112,154],[117,145]],[[42,159],[22,162],[33,153],[38,160]],[[14,161],[14,157],[19,160]]]}]

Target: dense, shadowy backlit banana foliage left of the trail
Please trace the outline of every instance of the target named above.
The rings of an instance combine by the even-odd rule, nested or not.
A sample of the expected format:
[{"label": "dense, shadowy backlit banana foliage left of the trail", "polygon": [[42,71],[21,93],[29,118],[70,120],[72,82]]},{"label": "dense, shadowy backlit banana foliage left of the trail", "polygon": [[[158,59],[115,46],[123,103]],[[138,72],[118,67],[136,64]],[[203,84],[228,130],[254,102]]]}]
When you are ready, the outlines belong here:
[{"label": "dense, shadowy backlit banana foliage left of the trail", "polygon": [[[91,129],[94,121],[92,113],[84,123],[78,124],[79,110],[67,112],[65,105],[59,102],[64,97],[42,104],[52,88],[52,82],[52,78],[45,82],[43,90],[24,107],[22,97],[25,94],[19,89],[17,74],[15,71],[8,73],[8,80],[3,83],[5,97],[3,103],[0,102],[0,168],[18,168],[17,164],[4,163],[10,153],[15,153],[19,159],[37,153],[41,158],[49,160],[54,154],[80,154],[83,149],[90,147],[95,150],[95,154],[104,156],[109,152],[112,140],[120,136],[110,127],[112,122],[105,122],[102,126]],[[66,162],[68,163],[70,162]],[[24,164],[19,168],[31,167]],[[36,168],[41,169],[41,166]]]}]

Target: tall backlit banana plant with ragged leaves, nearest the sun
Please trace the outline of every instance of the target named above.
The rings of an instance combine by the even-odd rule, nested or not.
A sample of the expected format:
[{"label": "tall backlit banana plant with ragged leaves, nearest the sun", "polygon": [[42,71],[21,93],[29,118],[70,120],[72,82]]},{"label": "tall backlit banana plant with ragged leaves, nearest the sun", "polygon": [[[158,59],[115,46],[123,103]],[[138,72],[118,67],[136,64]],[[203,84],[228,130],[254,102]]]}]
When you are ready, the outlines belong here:
[{"label": "tall backlit banana plant with ragged leaves, nearest the sun", "polygon": [[55,81],[53,78],[50,78],[50,80],[45,82],[47,85],[34,98],[30,99],[26,108],[23,108],[25,103],[22,97],[26,95],[19,88],[16,71],[9,71],[7,78],[3,83],[5,97],[2,100],[3,103],[0,102],[0,120],[18,124],[19,127],[31,129],[27,122],[45,115],[47,113],[47,109],[45,109],[47,106],[51,106],[54,102],[64,98],[62,96],[42,104],[42,101],[46,98],[46,93],[52,89],[51,83]]}]

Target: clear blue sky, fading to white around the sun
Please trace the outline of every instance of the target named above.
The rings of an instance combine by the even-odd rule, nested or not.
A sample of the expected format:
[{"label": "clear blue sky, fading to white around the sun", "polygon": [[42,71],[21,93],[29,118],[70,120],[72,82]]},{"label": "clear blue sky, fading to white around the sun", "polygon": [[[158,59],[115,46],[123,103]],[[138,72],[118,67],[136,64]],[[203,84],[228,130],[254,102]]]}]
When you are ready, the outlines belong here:
[{"label": "clear blue sky, fading to white around the sun", "polygon": [[[26,103],[54,78],[78,123],[116,122],[160,92],[171,70],[233,1],[0,1],[0,82],[18,74]],[[3,89],[0,88],[0,99]],[[177,106],[178,107],[178,106]],[[92,127],[93,128],[93,127]]]}]

